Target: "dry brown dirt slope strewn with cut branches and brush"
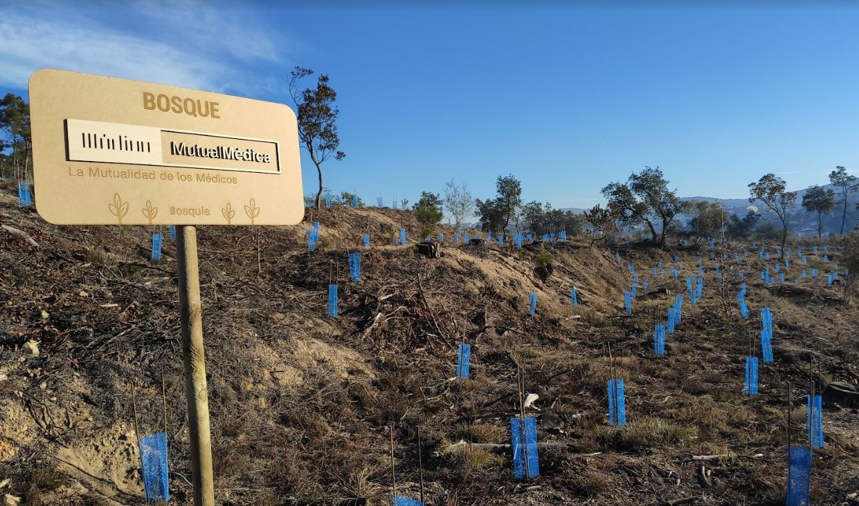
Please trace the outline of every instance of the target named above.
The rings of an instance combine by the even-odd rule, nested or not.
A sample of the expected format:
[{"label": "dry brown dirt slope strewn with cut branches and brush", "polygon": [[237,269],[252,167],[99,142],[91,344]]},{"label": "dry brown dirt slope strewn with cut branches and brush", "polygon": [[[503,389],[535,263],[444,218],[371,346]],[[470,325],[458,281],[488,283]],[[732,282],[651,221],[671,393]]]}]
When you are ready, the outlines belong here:
[{"label": "dry brown dirt slope strewn with cut branches and brush", "polygon": [[[190,503],[172,244],[163,262],[151,263],[151,230],[50,226],[18,207],[9,188],[0,192],[0,222],[39,244],[0,232],[0,481],[10,479],[0,496],[143,503],[131,385],[140,431],[159,431],[163,376],[171,503]],[[766,287],[746,277],[752,312],[769,304],[776,324],[776,364],[762,366],[761,395],[747,398],[740,395],[743,355],[756,323],[736,310],[736,266],[726,267],[724,312],[709,249],[621,248],[618,261],[613,251],[573,241],[548,250],[554,268],[544,281],[535,272],[536,248],[451,246],[428,260],[411,248],[378,246],[390,244],[399,226],[417,237],[404,212],[323,214],[322,244],[311,254],[306,226],[199,231],[218,503],[389,503],[387,427],[394,423],[398,492],[417,497],[420,425],[425,494],[436,505],[682,497],[777,504],[787,379],[807,384],[809,360],[819,357],[818,388],[859,380],[859,311],[837,304],[838,293],[820,278]],[[372,236],[369,250],[357,246],[364,232]],[[362,251],[359,282],[348,280],[349,250]],[[640,296],[634,315],[624,316],[631,284],[624,265],[649,278],[656,262],[667,267],[675,253],[685,263],[681,279],[660,276],[651,290],[684,292],[682,278],[701,256],[704,299],[695,307],[686,299],[667,356],[655,358],[652,326],[673,296]],[[744,260],[752,262],[748,272],[762,269],[757,257]],[[809,262],[827,267],[817,257]],[[332,276],[340,286],[337,318],[326,317]],[[539,295],[533,317],[529,292]],[[450,381],[458,340],[474,346],[468,381]],[[624,429],[607,426],[608,342],[627,383]],[[568,443],[541,449],[539,479],[524,482],[512,478],[509,455],[452,446],[509,442],[517,363],[527,391],[539,395],[529,408],[539,417],[539,440]],[[847,504],[859,491],[856,416],[856,409],[827,407],[814,504]],[[726,453],[703,462],[709,483],[698,477],[702,462],[691,455]]]}]

